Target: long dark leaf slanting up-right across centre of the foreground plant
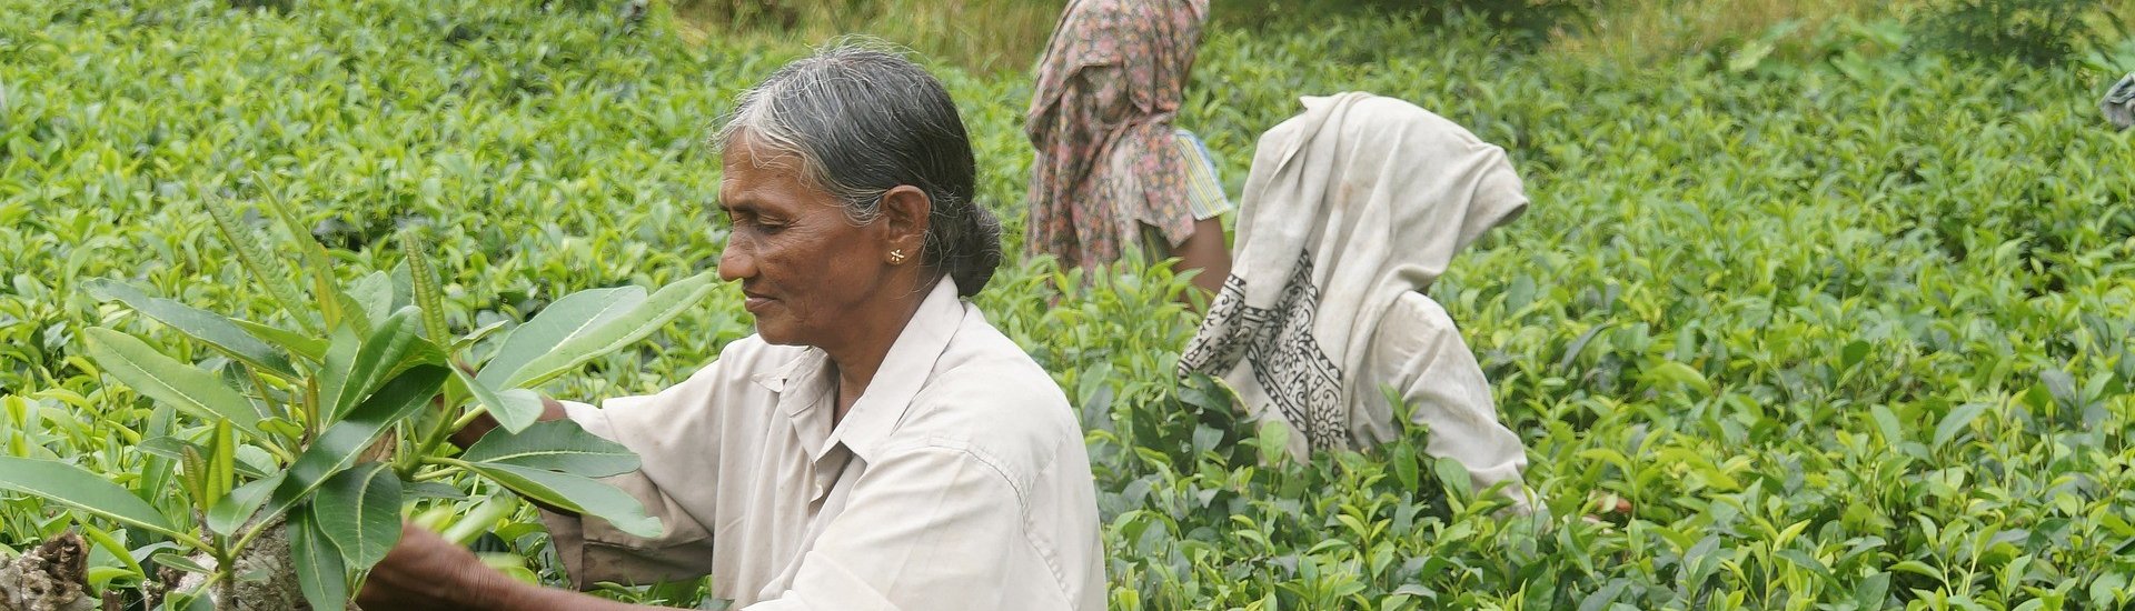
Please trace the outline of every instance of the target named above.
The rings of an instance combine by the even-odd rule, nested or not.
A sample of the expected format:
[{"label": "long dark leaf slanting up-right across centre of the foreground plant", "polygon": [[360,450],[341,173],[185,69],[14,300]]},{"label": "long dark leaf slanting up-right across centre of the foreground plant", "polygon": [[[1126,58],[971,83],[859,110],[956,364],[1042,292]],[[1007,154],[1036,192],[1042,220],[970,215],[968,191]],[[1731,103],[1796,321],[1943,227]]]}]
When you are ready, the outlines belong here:
[{"label": "long dark leaf slanting up-right across centre of the foreground plant", "polygon": [[327,427],[288,466],[288,476],[275,485],[260,521],[271,521],[310,498],[320,483],[352,466],[357,455],[378,442],[393,423],[429,406],[429,400],[438,395],[438,387],[444,385],[444,376],[446,372],[440,365],[410,367],[386,380],[369,400],[348,410],[346,419]]}]

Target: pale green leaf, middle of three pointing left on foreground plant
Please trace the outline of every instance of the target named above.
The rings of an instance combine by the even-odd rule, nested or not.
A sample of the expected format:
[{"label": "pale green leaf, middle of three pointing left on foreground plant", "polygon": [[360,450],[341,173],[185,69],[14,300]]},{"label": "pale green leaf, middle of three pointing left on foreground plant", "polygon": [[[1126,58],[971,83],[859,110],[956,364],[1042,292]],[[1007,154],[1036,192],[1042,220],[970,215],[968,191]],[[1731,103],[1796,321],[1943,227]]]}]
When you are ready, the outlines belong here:
[{"label": "pale green leaf, middle of three pointing left on foreground plant", "polygon": [[222,385],[216,374],[164,357],[135,335],[120,331],[90,327],[83,331],[83,340],[90,359],[135,391],[203,421],[228,419],[239,429],[265,438],[258,429],[260,412],[252,400]]}]

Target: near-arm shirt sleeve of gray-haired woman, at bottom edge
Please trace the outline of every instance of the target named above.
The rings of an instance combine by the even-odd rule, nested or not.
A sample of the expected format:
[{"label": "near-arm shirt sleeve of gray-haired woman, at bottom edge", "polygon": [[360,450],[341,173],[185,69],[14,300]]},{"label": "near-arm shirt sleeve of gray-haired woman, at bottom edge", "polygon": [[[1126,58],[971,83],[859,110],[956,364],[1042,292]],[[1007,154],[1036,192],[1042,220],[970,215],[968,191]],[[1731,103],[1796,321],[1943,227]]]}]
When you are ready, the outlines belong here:
[{"label": "near-arm shirt sleeve of gray-haired woman, at bottom edge", "polygon": [[1012,609],[1008,566],[1023,502],[1003,470],[963,446],[892,453],[854,481],[792,588],[745,611]]}]

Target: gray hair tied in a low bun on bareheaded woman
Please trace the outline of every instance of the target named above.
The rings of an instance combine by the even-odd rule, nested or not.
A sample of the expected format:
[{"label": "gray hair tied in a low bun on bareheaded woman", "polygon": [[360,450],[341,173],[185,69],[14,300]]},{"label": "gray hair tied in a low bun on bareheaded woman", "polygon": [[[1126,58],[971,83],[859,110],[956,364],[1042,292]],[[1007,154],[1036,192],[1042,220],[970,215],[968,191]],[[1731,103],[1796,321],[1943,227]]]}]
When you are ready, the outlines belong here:
[{"label": "gray hair tied in a low bun on bareheaded woman", "polygon": [[963,118],[927,68],[873,45],[831,45],[741,94],[713,147],[747,132],[758,162],[790,158],[854,222],[882,194],[914,186],[933,201],[920,263],[971,297],[1001,265],[1001,222],[974,201],[978,169]]}]

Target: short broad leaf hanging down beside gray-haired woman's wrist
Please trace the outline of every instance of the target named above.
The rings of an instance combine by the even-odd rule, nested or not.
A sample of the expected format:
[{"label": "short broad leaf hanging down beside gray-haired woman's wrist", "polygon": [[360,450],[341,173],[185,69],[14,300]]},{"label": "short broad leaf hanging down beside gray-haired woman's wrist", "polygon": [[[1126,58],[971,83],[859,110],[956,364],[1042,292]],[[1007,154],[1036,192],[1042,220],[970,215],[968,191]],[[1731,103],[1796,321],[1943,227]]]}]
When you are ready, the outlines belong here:
[{"label": "short broad leaf hanging down beside gray-haired woman's wrist", "polygon": [[386,464],[361,464],[318,487],[312,521],[348,566],[369,568],[399,543],[399,476]]}]

